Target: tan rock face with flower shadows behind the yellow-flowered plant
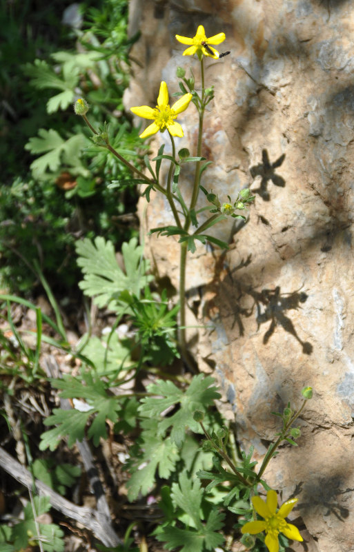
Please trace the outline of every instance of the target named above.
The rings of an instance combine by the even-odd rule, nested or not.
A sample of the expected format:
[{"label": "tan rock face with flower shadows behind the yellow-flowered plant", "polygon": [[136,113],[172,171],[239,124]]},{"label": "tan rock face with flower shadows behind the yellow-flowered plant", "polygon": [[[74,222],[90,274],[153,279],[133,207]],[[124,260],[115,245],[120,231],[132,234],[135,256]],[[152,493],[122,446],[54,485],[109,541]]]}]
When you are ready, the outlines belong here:
[{"label": "tan rock face with flower shadows behind the yellow-flowered plant", "polygon": [[[193,37],[199,24],[207,36],[226,32],[219,51],[231,54],[206,62],[215,100],[203,151],[213,165],[203,185],[222,201],[250,185],[256,200],[244,227],[227,221],[215,229],[231,236],[227,254],[199,247],[188,263],[198,322],[215,326],[199,335],[197,355],[215,367],[228,416],[259,460],[278,429],[271,411],[288,401],[296,407],[302,387],[313,386],[299,447],[283,447],[265,478],[284,500],[299,498],[294,517],[306,524],[309,550],[353,551],[354,6],[174,0],[132,1],[130,9],[141,30],[132,57],[141,66],[127,107],[155,105],[161,80],[177,91],[177,65],[193,67],[198,79],[197,59],[181,56],[176,33]],[[179,120],[178,147],[195,152],[193,107]],[[165,134],[154,150],[162,141],[168,150]],[[192,181],[188,167],[183,190]],[[141,214],[145,229],[171,221],[161,198]],[[146,246],[159,275],[177,287],[177,243],[154,237]]]}]

